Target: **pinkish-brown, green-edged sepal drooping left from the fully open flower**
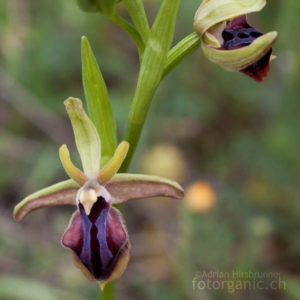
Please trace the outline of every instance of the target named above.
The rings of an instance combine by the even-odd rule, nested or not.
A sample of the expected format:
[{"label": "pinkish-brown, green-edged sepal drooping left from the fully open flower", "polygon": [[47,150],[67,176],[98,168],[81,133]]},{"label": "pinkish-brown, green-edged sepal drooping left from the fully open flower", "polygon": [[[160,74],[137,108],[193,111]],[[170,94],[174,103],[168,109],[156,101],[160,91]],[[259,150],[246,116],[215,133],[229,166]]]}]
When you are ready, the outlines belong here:
[{"label": "pinkish-brown, green-edged sepal drooping left from the fully open flower", "polygon": [[14,206],[13,217],[20,221],[32,210],[52,205],[76,205],[76,193],[79,186],[73,179],[68,179],[40,189],[24,198]]}]

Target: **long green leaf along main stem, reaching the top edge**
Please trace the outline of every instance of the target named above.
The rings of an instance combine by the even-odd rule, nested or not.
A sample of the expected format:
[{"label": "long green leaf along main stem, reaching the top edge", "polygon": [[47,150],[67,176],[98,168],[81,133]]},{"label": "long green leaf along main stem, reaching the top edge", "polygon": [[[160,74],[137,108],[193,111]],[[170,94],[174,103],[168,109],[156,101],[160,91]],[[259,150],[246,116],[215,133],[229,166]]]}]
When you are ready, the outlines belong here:
[{"label": "long green leaf along main stem, reaching the top edge", "polygon": [[125,171],[130,163],[151,99],[159,85],[167,53],[173,39],[179,1],[164,0],[150,30],[128,117],[129,123],[125,140],[129,142],[130,148],[121,166],[122,171]]}]

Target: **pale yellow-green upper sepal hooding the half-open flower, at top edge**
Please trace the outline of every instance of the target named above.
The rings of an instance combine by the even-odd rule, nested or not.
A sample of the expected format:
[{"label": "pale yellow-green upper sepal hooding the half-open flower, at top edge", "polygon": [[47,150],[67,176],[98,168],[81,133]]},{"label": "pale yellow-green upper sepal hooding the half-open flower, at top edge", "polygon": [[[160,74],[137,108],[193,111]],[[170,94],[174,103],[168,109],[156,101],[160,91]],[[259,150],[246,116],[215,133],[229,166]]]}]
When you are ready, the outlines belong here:
[{"label": "pale yellow-green upper sepal hooding the half-open flower, at top edge", "polygon": [[265,3],[265,0],[203,0],[195,14],[194,29],[201,37],[214,24],[259,11]]}]

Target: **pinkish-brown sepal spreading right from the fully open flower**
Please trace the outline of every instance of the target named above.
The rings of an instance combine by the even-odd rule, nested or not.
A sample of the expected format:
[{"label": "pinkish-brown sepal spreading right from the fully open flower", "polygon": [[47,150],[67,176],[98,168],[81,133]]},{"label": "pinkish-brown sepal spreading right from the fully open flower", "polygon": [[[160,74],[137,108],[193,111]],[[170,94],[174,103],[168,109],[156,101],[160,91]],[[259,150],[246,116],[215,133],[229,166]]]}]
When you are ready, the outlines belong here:
[{"label": "pinkish-brown sepal spreading right from the fully open flower", "polygon": [[112,204],[156,196],[184,197],[184,191],[177,182],[151,175],[118,173],[105,188],[111,195]]}]

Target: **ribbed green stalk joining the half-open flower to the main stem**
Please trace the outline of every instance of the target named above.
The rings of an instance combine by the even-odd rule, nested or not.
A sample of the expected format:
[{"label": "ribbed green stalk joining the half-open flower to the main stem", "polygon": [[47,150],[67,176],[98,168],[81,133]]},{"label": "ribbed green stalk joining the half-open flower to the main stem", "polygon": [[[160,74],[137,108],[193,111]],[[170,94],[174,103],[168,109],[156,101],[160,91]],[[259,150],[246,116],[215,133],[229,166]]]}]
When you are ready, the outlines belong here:
[{"label": "ribbed green stalk joining the half-open flower to the main stem", "polygon": [[195,51],[201,44],[201,40],[196,32],[185,36],[167,54],[167,59],[161,80],[174,69],[182,60]]}]

